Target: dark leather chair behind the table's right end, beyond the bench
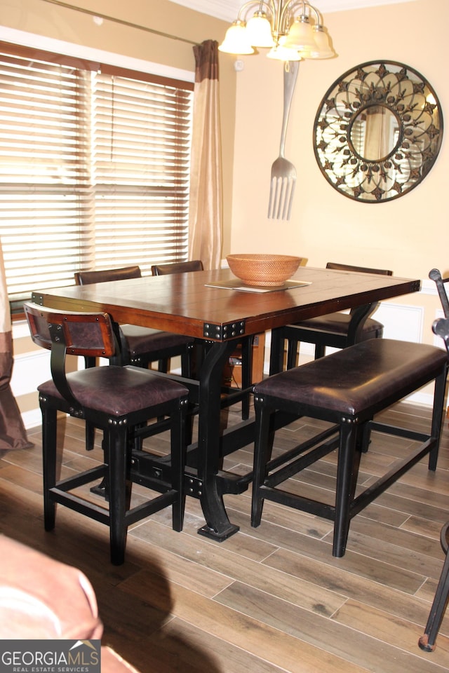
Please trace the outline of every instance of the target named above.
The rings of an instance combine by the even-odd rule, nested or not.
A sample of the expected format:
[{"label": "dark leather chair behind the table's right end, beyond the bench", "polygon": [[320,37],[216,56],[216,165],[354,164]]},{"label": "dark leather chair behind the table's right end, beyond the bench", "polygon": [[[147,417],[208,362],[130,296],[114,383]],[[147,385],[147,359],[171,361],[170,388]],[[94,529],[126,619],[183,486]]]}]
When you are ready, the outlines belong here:
[{"label": "dark leather chair behind the table's right end, beyond the bench", "polygon": [[[326,268],[337,271],[356,271],[358,273],[379,273],[382,276],[392,276],[393,272],[383,268],[368,268],[366,266],[351,266],[328,261]],[[371,304],[351,308],[349,313],[328,313],[316,318],[295,322],[293,325],[279,327],[272,331],[272,350],[270,354],[270,374],[276,374],[283,369],[284,342],[288,343],[287,369],[297,365],[297,347],[300,341],[315,344],[315,360],[322,358],[326,347],[347,348],[367,339],[380,339],[383,336],[384,326],[374,318],[370,318],[379,306],[378,301]]]}]

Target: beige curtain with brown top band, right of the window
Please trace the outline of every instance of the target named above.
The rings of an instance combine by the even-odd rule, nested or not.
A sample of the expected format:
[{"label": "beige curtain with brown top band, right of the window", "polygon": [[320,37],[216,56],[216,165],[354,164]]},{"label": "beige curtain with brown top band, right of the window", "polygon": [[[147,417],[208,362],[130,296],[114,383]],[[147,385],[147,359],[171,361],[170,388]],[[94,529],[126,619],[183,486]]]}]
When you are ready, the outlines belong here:
[{"label": "beige curtain with brown top band, right of the window", "polygon": [[189,258],[219,268],[222,256],[222,151],[218,43],[194,46],[195,87],[190,176]]}]

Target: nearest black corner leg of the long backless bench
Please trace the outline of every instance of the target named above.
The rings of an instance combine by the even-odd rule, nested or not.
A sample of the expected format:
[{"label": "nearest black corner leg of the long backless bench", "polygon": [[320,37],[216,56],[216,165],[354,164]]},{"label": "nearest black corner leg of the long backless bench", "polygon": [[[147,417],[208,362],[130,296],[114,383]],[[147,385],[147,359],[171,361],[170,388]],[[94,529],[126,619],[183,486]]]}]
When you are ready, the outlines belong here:
[{"label": "nearest black corner leg of the long backless bench", "polygon": [[[335,489],[335,522],[333,556],[342,557],[349,533],[349,505],[357,479],[356,444],[359,428],[354,423],[340,425],[340,447],[337,461],[337,486]],[[358,453],[358,452],[357,452]],[[359,456],[360,454],[358,454]]]}]

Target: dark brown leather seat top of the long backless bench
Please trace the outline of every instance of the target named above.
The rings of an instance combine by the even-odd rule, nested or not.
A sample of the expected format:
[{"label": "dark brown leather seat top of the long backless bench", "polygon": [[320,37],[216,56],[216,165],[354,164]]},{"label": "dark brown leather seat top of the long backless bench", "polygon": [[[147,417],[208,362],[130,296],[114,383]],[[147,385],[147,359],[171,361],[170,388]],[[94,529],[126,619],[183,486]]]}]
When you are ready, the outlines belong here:
[{"label": "dark brown leather seat top of the long backless bench", "polygon": [[370,339],[274,374],[257,383],[254,393],[355,416],[390,396],[401,399],[422,379],[434,378],[445,362],[446,353],[436,346]]}]

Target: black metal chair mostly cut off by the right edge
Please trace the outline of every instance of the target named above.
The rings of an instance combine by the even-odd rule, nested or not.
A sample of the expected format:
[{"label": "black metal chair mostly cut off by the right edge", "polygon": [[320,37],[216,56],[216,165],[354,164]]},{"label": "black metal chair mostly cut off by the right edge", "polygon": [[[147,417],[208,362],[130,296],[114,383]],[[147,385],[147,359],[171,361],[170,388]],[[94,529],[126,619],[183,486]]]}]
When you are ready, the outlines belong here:
[{"label": "black metal chair mostly cut off by the right edge", "polygon": [[[429,277],[432,278],[432,280],[435,280],[437,283],[445,282],[441,278],[441,273],[436,268],[432,269],[432,271],[429,273]],[[449,304],[447,304],[448,297],[445,294],[444,287],[443,285],[440,285],[440,287],[444,292],[445,301],[442,301],[443,307],[446,304],[449,308]],[[443,339],[446,351],[448,351],[449,353],[449,316],[446,318],[440,318],[439,320],[435,320],[434,325],[432,325],[432,329],[434,331],[434,334]],[[436,648],[435,644],[436,637],[438,636],[438,631],[440,630],[441,622],[443,621],[445,609],[448,604],[448,597],[449,597],[448,533],[449,533],[449,522],[444,524],[440,533],[441,548],[443,548],[443,552],[445,555],[443,569],[441,570],[441,576],[440,579],[438,580],[438,586],[436,587],[434,601],[432,602],[431,605],[429,618],[427,619],[424,634],[422,634],[422,636],[418,641],[418,645],[420,646],[420,648],[426,652],[433,652],[434,649]]]}]

